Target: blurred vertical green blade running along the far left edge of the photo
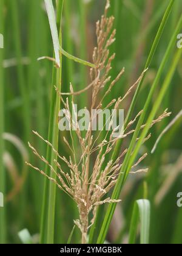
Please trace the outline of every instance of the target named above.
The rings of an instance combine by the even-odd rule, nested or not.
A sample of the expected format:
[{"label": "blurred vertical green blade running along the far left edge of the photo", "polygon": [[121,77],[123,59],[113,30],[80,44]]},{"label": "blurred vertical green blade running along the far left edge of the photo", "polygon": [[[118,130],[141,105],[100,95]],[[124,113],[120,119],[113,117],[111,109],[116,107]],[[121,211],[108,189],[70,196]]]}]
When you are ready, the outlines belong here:
[{"label": "blurred vertical green blade running along the far left edge of the photo", "polygon": [[[4,0],[0,0],[0,33],[4,35]],[[3,163],[4,140],[4,70],[2,68],[4,49],[0,48],[0,192],[5,195],[5,169]],[[0,243],[6,242],[5,207],[0,207]]]}]

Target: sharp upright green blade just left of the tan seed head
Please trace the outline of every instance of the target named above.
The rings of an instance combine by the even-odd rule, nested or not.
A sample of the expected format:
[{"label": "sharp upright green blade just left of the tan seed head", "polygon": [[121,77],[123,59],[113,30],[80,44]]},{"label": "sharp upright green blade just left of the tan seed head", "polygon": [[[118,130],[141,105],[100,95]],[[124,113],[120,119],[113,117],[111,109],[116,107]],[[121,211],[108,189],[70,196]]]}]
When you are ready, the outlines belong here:
[{"label": "sharp upright green blade just left of the tan seed head", "polygon": [[[59,45],[62,44],[61,38],[61,17],[62,17],[62,7],[64,0],[58,0],[56,9],[58,10],[56,19],[57,28],[59,31]],[[52,4],[52,1],[49,1],[49,4]],[[53,6],[51,7],[52,15],[55,15]],[[60,11],[61,10],[61,11]],[[55,27],[55,26],[53,26]],[[62,56],[59,52],[60,68],[55,70],[53,66],[53,77],[52,77],[52,98],[51,98],[51,107],[50,107],[50,118],[49,118],[49,135],[48,140],[53,144],[54,148],[58,150],[58,113],[60,108],[60,99],[58,94],[55,91],[53,85],[56,85],[59,91],[61,91],[61,64]],[[55,162],[56,155],[52,150],[47,147],[47,160],[56,169]],[[50,174],[48,167],[45,169],[46,173],[52,178],[56,178],[55,174]],[[50,183],[45,179],[44,184],[44,199],[42,205],[42,218],[41,218],[41,243],[53,243],[54,241],[54,227],[55,227],[55,201],[56,201],[56,185],[55,183]],[[48,212],[47,212],[48,211]]]}]

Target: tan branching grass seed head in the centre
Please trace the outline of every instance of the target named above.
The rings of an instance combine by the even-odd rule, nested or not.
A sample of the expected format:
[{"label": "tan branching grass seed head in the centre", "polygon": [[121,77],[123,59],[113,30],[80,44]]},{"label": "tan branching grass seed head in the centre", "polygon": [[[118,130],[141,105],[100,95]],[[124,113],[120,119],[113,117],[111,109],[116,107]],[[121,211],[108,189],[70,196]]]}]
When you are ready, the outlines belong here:
[{"label": "tan branching grass seed head in the centre", "polygon": [[[74,127],[76,133],[76,140],[79,142],[80,151],[78,151],[78,145],[76,145],[75,150],[75,136],[73,136],[73,131],[70,129],[70,141],[67,141],[66,138],[63,138],[64,143],[71,152],[68,158],[61,156],[58,151],[53,148],[53,145],[45,140],[38,132],[33,131],[41,140],[47,143],[52,151],[55,153],[58,160],[54,160],[56,163],[57,169],[53,168],[52,165],[42,156],[39,152],[29,143],[30,148],[33,153],[39,157],[42,162],[50,167],[52,172],[55,172],[57,179],[52,179],[49,177],[45,171],[42,169],[36,168],[30,163],[27,165],[41,172],[52,182],[55,182],[60,190],[67,193],[72,199],[76,202],[79,210],[79,219],[76,219],[74,222],[76,226],[81,230],[82,234],[82,243],[87,243],[87,232],[92,226],[96,218],[97,208],[101,204],[106,203],[118,203],[121,200],[112,200],[110,197],[107,197],[107,193],[115,186],[118,179],[118,173],[122,166],[123,157],[127,153],[127,148],[123,149],[120,156],[116,158],[115,161],[107,160],[109,155],[113,151],[113,147],[118,140],[124,139],[135,132],[133,124],[135,124],[138,117],[141,115],[141,110],[133,120],[129,121],[126,125],[124,131],[119,137],[113,138],[113,133],[115,129],[108,130],[107,132],[101,130],[100,132],[93,131],[92,124],[96,116],[93,114],[92,110],[105,109],[113,107],[117,110],[120,107],[121,102],[131,93],[132,90],[138,85],[138,83],[143,78],[146,70],[143,71],[141,76],[129,88],[126,94],[123,97],[118,99],[112,99],[109,103],[104,105],[104,100],[107,99],[107,96],[110,94],[110,91],[115,86],[116,82],[120,80],[121,76],[124,73],[124,68],[121,69],[118,76],[111,80],[109,75],[110,69],[112,68],[112,60],[115,59],[115,54],[110,55],[109,47],[115,41],[116,30],[113,29],[113,16],[107,18],[107,10],[110,7],[110,2],[107,1],[104,15],[101,16],[101,20],[96,23],[96,38],[97,46],[93,50],[93,64],[94,67],[90,69],[90,80],[91,83],[83,91],[75,93],[73,91],[72,85],[70,85],[70,93],[68,95],[72,97],[69,101],[68,98],[63,99],[64,93],[59,92],[55,87],[56,92],[60,96],[60,100],[64,105],[66,111],[66,118],[69,120],[72,127]],[[89,128],[86,132],[81,132],[79,129],[78,120],[73,118],[70,109],[74,109],[74,95],[79,95],[79,93],[84,93],[86,90],[92,90],[91,103],[90,103],[90,122]],[[76,113],[74,113],[76,115]],[[170,113],[167,110],[164,111],[157,119],[153,120],[151,127],[160,122],[166,116],[169,116]],[[112,126],[112,119],[109,123],[109,126]],[[141,126],[141,129],[143,129]],[[150,134],[144,139],[143,143],[149,140]],[[138,140],[138,138],[136,139]],[[96,152],[96,157],[93,157]],[[79,155],[78,155],[79,154]],[[94,155],[95,156],[95,155]],[[132,166],[130,173],[146,172],[147,169],[136,169],[136,166],[140,165],[141,161],[147,156],[144,154],[138,160],[136,160],[135,165]],[[92,160],[92,161],[91,161]],[[62,165],[66,164],[67,168],[63,169]],[[64,165],[65,166],[65,165]]]}]

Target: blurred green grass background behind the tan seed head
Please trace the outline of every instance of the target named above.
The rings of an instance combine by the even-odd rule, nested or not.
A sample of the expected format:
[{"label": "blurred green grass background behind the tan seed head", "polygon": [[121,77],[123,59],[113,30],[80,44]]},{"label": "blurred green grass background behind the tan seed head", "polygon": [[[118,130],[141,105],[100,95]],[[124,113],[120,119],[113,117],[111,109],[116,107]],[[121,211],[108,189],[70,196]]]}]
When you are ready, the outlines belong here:
[{"label": "blurred green grass background behind the tan seed head", "polygon": [[[29,152],[27,141],[31,141],[45,155],[45,144],[33,136],[32,130],[37,130],[47,138],[52,63],[49,60],[38,62],[37,59],[41,56],[51,57],[53,44],[44,1],[0,2],[0,33],[4,35],[4,49],[0,49],[0,191],[4,192],[5,200],[4,208],[0,208],[0,243],[4,242],[1,240],[3,237],[5,243],[21,243],[18,232],[25,228],[37,242],[44,179],[36,171],[27,168],[25,161],[29,159],[33,165],[42,168],[39,160]],[[92,51],[96,44],[95,23],[103,13],[105,2],[65,1],[62,18],[63,49],[92,62]],[[111,0],[110,13],[115,16],[117,30],[112,47],[112,52],[116,53],[112,77],[123,66],[126,69],[112,91],[112,98],[122,96],[143,71],[167,4],[168,0]],[[143,108],[181,12],[181,0],[176,0],[144,80],[135,114]],[[171,59],[167,62],[161,82],[166,77]],[[130,176],[127,180],[121,193],[122,204],[116,208],[108,234],[107,240],[111,243],[127,243],[133,204],[136,199],[143,198],[144,191],[147,191],[145,196],[152,205],[150,243],[182,243],[182,208],[177,207],[177,193],[182,191],[181,118],[163,137],[157,151],[150,154],[158,135],[181,110],[181,64],[182,60],[159,112],[169,108],[172,115],[152,128],[152,138],[141,148],[141,155],[146,151],[149,153],[141,166],[149,166],[149,173]],[[69,82],[72,82],[76,91],[86,87],[89,83],[89,69],[63,57],[62,91],[69,91]],[[160,86],[155,91],[152,104],[159,90]],[[129,107],[131,98],[129,96],[124,102],[124,109]],[[89,94],[84,94],[78,101],[82,106],[87,105]],[[67,154],[61,140],[59,148],[62,155]],[[76,215],[73,202],[58,191],[55,243],[66,243]],[[6,221],[2,222],[3,219]],[[79,236],[79,232],[75,232],[75,241],[79,242]]]}]

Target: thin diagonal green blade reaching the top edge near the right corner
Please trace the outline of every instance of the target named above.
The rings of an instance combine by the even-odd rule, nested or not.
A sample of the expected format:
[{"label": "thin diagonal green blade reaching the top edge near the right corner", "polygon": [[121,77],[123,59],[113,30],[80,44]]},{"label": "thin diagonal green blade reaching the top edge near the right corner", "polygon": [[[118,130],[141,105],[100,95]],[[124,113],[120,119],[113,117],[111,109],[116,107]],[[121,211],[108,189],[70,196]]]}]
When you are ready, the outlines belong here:
[{"label": "thin diagonal green blade reaching the top edge near the right corner", "polygon": [[[146,65],[145,65],[144,69],[149,68],[150,63],[152,62],[153,55],[155,54],[155,51],[157,49],[161,35],[163,34],[164,27],[169,18],[169,15],[170,15],[173,5],[174,5],[174,0],[171,0],[169,5],[167,6],[166,12],[164,13],[163,20],[161,21],[161,24],[158,29],[157,35],[155,37],[155,40],[153,41],[152,48],[150,49],[149,57],[147,58]],[[146,76],[146,73],[144,74],[143,78],[141,79],[140,83],[138,84],[138,87],[136,88],[135,94],[132,99],[132,103],[130,104],[129,111],[127,112],[125,124],[127,124],[127,121],[129,121],[132,116],[133,109],[135,108],[136,100],[138,99],[138,95],[140,93],[141,86],[143,85],[145,76]],[[112,155],[113,160],[115,160],[118,157],[118,155],[120,154],[121,144],[122,144],[122,140],[119,140],[116,143],[115,150]]]}]

